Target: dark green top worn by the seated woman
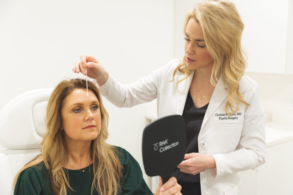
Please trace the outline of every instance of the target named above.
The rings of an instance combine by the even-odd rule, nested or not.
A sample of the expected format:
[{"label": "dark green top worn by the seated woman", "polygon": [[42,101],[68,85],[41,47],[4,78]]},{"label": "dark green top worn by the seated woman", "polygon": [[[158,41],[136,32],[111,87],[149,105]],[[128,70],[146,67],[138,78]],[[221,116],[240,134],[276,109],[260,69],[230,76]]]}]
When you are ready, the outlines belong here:
[{"label": "dark green top worn by the seated woman", "polygon": [[[148,188],[146,182],[142,177],[142,170],[140,169],[137,161],[128,153],[125,149],[117,147],[117,150],[121,153],[119,155],[120,165],[122,168],[122,182],[121,182],[121,193],[122,194],[133,194],[133,195],[146,195],[152,194]],[[65,169],[65,168],[64,168]],[[69,170],[69,185],[75,191],[67,190],[69,195],[86,195],[91,194],[91,185],[93,177],[91,173],[93,171],[93,164],[80,170]],[[90,171],[89,171],[90,170]],[[17,178],[17,182],[14,189],[14,195],[51,195],[54,194],[47,180],[47,168],[44,163],[29,167]],[[97,193],[96,193],[97,194]]]}]

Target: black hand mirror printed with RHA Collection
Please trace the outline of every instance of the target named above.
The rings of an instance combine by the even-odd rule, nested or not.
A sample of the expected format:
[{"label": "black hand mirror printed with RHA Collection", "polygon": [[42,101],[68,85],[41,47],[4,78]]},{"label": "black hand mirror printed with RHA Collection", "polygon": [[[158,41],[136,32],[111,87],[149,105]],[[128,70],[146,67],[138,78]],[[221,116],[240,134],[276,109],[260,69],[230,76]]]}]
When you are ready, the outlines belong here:
[{"label": "black hand mirror printed with RHA Collection", "polygon": [[142,160],[148,176],[160,175],[163,184],[185,155],[186,127],[182,116],[157,119],[144,128]]}]

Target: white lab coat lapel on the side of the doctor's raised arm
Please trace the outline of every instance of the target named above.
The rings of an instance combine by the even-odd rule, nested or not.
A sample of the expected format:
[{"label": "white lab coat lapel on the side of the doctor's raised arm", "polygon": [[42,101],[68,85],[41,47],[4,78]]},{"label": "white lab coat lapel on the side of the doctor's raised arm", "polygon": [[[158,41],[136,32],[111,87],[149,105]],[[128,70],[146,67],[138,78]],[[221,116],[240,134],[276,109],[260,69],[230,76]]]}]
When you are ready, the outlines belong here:
[{"label": "white lab coat lapel on the side of the doctor's raised arm", "polygon": [[[182,115],[186,97],[190,88],[190,83],[193,77],[194,71],[183,81],[178,83],[178,90],[176,89],[177,98],[176,98],[176,114]],[[178,81],[184,78],[184,74],[178,76]]]}]

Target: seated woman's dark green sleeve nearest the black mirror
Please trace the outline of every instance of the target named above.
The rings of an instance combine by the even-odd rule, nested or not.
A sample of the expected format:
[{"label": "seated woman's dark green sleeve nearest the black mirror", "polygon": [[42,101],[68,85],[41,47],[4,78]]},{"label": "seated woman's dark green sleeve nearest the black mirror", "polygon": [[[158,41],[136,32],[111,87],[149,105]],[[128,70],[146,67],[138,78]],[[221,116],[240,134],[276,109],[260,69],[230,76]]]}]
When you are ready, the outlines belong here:
[{"label": "seated woman's dark green sleeve nearest the black mirror", "polygon": [[120,151],[120,163],[122,168],[122,194],[123,195],[136,195],[136,194],[153,194],[147,186],[144,178],[142,177],[142,170],[133,158],[133,156],[125,149],[117,147]]}]

